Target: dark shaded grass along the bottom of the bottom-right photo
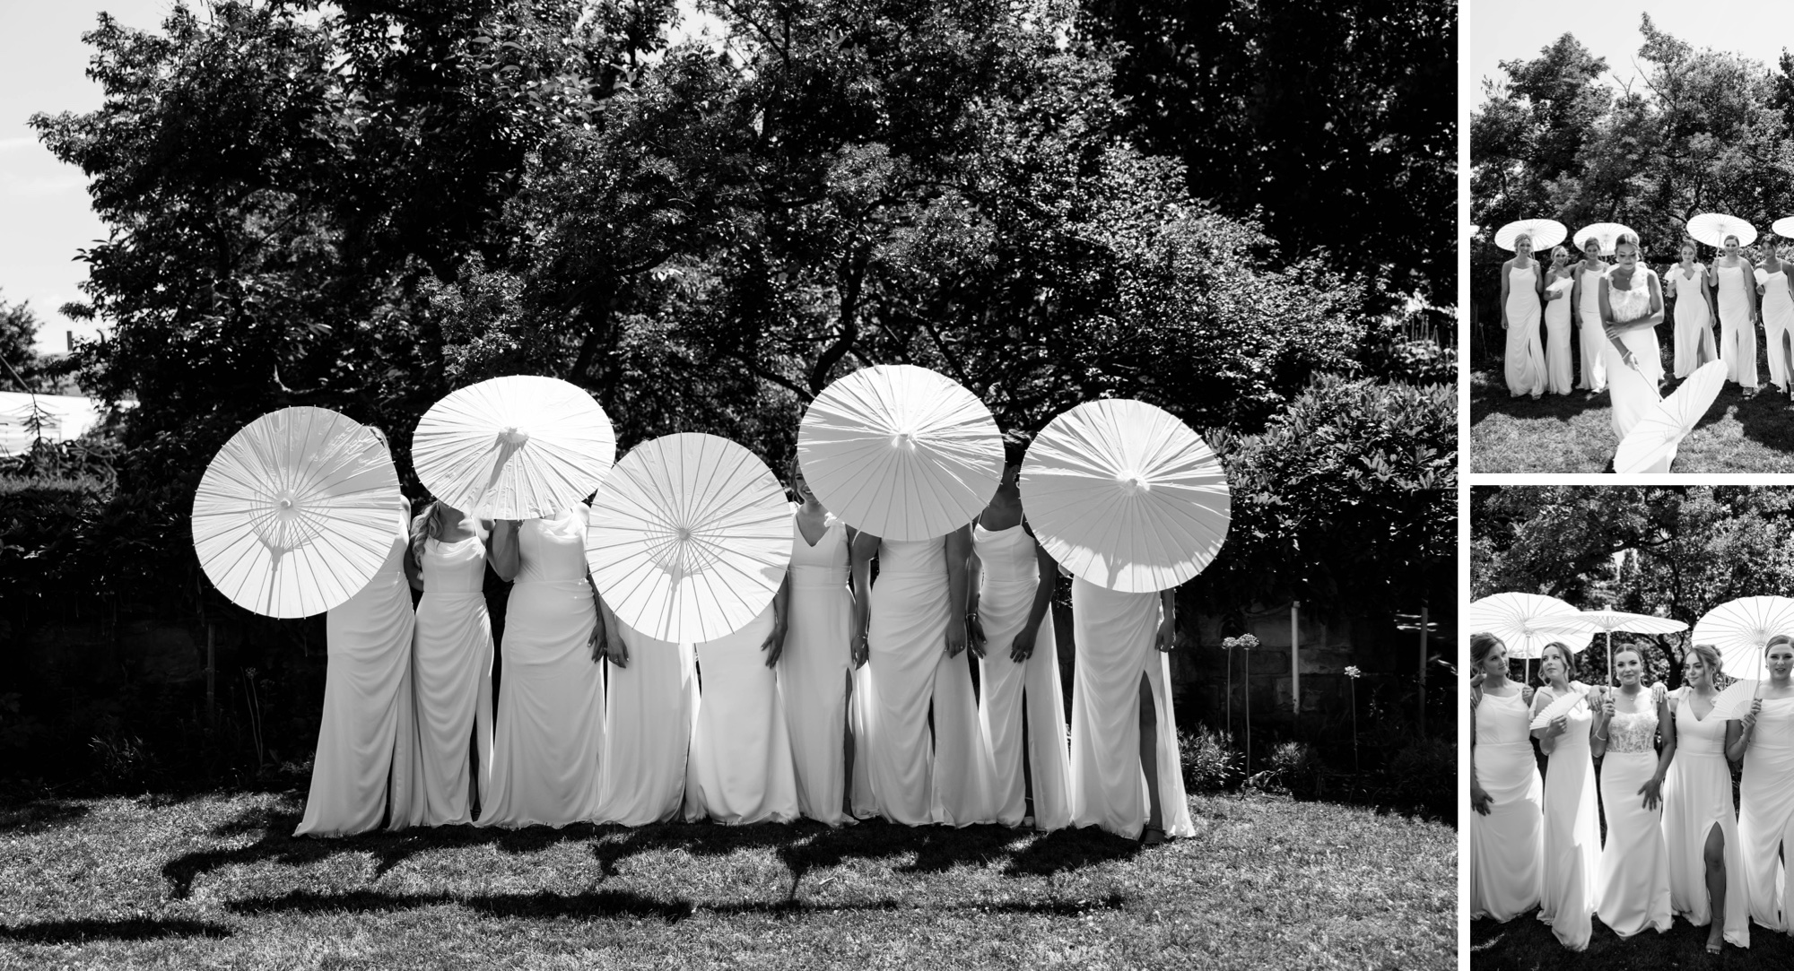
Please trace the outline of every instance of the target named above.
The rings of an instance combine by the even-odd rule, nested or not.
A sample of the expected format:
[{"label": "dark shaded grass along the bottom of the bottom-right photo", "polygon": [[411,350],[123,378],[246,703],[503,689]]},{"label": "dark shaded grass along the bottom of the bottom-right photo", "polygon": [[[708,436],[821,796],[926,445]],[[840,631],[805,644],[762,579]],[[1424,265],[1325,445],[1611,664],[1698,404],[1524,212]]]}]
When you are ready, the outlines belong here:
[{"label": "dark shaded grass along the bottom of the bottom-right photo", "polygon": [[1595,919],[1595,937],[1582,953],[1564,950],[1552,928],[1537,919],[1537,910],[1505,924],[1471,921],[1469,966],[1476,971],[1509,967],[1563,971],[1667,971],[1670,967],[1724,967],[1728,971],[1794,967],[1794,937],[1751,924],[1749,950],[1726,950],[1717,958],[1706,953],[1706,928],[1677,919],[1667,933],[1647,930],[1625,941]]}]

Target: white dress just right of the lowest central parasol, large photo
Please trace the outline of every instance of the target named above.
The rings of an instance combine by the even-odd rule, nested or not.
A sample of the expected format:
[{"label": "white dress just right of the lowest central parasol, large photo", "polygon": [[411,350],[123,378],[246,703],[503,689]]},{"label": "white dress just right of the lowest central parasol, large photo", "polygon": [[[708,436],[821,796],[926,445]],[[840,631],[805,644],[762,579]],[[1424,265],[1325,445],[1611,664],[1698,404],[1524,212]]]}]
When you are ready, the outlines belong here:
[{"label": "white dress just right of the lowest central parasol, large photo", "polygon": [[798,810],[818,822],[852,822],[841,806],[847,792],[847,679],[854,670],[849,591],[847,523],[832,514],[816,545],[804,539],[791,505],[791,589],[786,641],[779,654],[791,758],[797,765]]}]

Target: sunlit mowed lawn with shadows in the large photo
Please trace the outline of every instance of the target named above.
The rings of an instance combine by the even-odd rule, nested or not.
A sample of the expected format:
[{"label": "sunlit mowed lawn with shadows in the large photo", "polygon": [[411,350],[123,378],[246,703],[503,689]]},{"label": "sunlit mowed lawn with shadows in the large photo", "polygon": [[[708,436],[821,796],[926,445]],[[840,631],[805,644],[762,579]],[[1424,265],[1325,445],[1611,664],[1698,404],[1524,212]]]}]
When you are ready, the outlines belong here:
[{"label": "sunlit mowed lawn with shadows in the large photo", "polygon": [[0,812],[29,967],[1455,967],[1457,829],[1191,797],[1094,829],[466,826],[292,838],[298,794]]}]

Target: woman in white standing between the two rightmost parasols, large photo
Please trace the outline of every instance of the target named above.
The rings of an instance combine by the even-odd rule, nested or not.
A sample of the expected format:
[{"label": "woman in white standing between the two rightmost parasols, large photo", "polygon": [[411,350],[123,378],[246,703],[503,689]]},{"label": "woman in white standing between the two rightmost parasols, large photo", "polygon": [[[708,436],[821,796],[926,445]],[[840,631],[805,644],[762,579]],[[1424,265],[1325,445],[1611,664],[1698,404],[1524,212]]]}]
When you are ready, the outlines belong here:
[{"label": "woman in white standing between the two rightmost parasols, large photo", "polygon": [[[978,718],[996,763],[997,822],[1049,831],[1071,822],[1071,758],[1051,611],[1058,566],[1023,516],[1015,478],[1024,450],[1005,443],[1005,453],[1003,480],[972,523],[965,571],[972,645],[981,652]],[[996,654],[985,652],[987,645]]]}]

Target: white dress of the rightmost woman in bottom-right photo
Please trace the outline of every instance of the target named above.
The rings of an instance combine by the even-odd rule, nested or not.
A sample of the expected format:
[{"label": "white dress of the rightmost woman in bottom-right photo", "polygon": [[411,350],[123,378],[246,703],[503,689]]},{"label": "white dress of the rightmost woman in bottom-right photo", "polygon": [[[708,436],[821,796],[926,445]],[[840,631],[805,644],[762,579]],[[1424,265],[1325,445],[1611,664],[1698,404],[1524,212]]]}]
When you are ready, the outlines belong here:
[{"label": "white dress of the rightmost woman in bottom-right photo", "polygon": [[1753,921],[1789,932],[1789,869],[1781,853],[1794,853],[1794,699],[1764,699],[1751,735],[1738,776],[1744,894]]}]

